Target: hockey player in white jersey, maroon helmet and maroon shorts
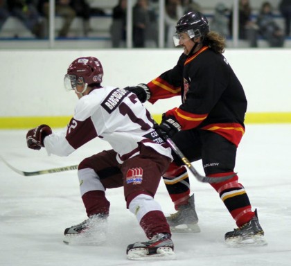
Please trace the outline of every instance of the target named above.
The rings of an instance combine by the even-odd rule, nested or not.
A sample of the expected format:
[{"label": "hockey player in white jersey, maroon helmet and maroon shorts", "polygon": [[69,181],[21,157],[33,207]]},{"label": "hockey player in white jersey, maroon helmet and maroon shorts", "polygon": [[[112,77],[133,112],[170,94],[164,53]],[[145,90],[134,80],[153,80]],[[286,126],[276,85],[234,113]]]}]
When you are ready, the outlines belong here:
[{"label": "hockey player in white jersey, maroon helmet and maroon shorts", "polygon": [[[106,239],[109,201],[107,188],[124,187],[130,209],[149,238],[127,247],[127,258],[173,258],[170,228],[154,196],[161,176],[173,159],[168,145],[153,129],[154,121],[135,94],[101,85],[103,67],[96,57],[74,60],[64,86],[79,98],[75,114],[62,132],[39,125],[26,135],[28,148],[44,147],[48,154],[68,156],[99,137],[112,150],[94,154],[78,166],[80,193],[88,219],[64,231],[64,242],[100,245]],[[98,147],[96,147],[98,150]]]}]

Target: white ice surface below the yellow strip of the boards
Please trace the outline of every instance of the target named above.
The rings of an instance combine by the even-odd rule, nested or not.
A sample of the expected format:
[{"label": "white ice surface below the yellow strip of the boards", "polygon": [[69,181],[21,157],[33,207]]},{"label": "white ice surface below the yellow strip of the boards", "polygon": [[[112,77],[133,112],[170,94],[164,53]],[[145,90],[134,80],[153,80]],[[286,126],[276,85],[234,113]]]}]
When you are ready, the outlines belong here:
[{"label": "white ice surface below the yellow strip of the boards", "polygon": [[[26,148],[26,131],[1,130],[1,156],[21,170],[78,164],[108,149],[94,140],[69,157],[48,157]],[[134,215],[125,208],[123,189],[107,190],[111,202],[109,234],[103,247],[64,245],[66,227],[86,219],[76,170],[24,177],[0,161],[0,265],[5,266],[287,266],[291,265],[291,124],[247,125],[238,149],[236,172],[265,231],[265,247],[229,248],[224,233],[236,227],[218,194],[191,177],[201,233],[173,235],[176,260],[131,261],[128,244],[146,240]],[[193,163],[201,173],[201,161]],[[174,212],[161,182],[156,199],[164,213]],[[146,263],[146,264],[145,264]]]}]

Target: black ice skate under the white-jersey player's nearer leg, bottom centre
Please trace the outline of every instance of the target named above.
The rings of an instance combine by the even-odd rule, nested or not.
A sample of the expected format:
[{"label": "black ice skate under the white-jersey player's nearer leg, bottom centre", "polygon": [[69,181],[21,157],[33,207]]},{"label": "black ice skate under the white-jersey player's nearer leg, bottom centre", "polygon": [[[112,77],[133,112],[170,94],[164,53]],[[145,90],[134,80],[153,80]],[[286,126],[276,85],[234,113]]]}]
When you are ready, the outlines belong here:
[{"label": "black ice skate under the white-jersey player's nearer leg, bottom centre", "polygon": [[174,244],[168,233],[158,233],[146,242],[135,242],[127,246],[130,260],[173,260]]}]

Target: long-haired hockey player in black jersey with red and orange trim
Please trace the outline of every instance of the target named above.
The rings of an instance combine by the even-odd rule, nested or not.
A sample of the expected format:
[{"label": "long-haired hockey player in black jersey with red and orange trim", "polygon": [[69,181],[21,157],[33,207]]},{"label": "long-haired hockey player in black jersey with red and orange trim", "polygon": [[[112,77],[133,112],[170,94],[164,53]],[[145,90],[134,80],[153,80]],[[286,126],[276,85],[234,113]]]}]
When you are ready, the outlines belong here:
[{"label": "long-haired hockey player in black jersey with red and orange trim", "polygon": [[[245,188],[234,172],[236,150],[245,133],[247,99],[240,81],[222,55],[224,38],[210,31],[200,12],[189,12],[177,22],[174,42],[184,53],[173,69],[135,87],[128,87],[142,102],[182,97],[182,105],[168,110],[159,125],[161,136],[170,136],[189,161],[202,159],[208,177],[234,175],[211,184],[236,221],[238,229],[225,234],[229,245],[265,245],[264,231]],[[164,174],[177,213],[167,218],[172,232],[200,231],[194,196],[184,163],[174,161]]]}]

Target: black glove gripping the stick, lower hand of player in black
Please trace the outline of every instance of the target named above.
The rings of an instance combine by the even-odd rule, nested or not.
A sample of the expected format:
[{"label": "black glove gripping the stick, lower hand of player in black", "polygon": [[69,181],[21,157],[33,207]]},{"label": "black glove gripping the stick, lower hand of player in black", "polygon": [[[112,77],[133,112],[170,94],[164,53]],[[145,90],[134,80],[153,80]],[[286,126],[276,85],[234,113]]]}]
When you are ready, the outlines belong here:
[{"label": "black glove gripping the stick, lower hand of player in black", "polygon": [[155,130],[157,134],[166,141],[168,137],[172,138],[181,130],[181,125],[176,121],[174,116],[165,116],[165,114],[163,114],[161,123],[155,125]]}]

